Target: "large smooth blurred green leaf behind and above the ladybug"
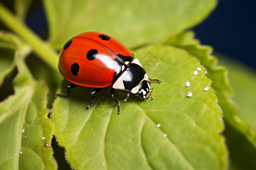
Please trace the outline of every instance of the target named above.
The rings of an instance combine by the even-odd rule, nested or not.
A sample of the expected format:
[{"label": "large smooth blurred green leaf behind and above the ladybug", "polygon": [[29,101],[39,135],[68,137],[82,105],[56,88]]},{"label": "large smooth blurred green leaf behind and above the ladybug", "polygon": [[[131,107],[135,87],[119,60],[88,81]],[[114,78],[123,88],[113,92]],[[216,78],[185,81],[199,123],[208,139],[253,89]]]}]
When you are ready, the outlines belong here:
[{"label": "large smooth blurred green leaf behind and above the ladybug", "polygon": [[109,33],[126,46],[165,40],[205,19],[216,0],[51,1],[44,0],[50,43],[61,49],[86,31]]}]

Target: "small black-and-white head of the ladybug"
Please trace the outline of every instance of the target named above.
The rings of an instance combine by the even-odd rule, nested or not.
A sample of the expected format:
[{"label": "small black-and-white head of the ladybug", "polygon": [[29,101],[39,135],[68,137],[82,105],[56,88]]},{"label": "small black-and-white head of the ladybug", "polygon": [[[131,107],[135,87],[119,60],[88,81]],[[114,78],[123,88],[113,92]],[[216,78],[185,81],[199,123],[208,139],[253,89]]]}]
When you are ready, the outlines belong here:
[{"label": "small black-and-white head of the ladybug", "polygon": [[[151,88],[150,83],[146,80],[143,80],[139,85],[139,91],[136,96],[142,100],[147,101],[147,98],[150,97],[152,90],[153,88]],[[152,100],[153,98],[150,97],[150,99]]]}]

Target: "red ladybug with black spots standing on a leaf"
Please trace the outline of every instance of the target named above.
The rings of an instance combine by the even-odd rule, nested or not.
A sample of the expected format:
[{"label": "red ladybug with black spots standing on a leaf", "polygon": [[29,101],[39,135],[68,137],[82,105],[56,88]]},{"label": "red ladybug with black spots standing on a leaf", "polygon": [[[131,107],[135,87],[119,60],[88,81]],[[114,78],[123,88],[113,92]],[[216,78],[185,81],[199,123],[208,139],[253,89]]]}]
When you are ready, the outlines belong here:
[{"label": "red ladybug with black spots standing on a leaf", "polygon": [[95,88],[90,92],[92,101],[86,107],[89,109],[95,101],[94,95],[112,86],[110,96],[117,103],[118,114],[120,104],[114,97],[114,90],[128,92],[124,103],[130,93],[146,101],[152,92],[148,81],[160,82],[148,78],[141,62],[126,46],[102,32],[85,32],[69,40],[60,52],[59,70],[71,84],[67,86],[68,94],[58,96],[71,95],[70,89],[77,86]]}]

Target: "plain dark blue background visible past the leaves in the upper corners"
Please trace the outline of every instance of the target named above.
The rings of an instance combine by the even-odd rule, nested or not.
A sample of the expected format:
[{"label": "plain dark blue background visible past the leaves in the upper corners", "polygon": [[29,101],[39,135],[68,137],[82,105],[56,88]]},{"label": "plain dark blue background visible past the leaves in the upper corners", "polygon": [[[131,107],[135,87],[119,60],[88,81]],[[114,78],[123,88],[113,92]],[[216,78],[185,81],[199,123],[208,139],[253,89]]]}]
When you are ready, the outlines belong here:
[{"label": "plain dark blue background visible past the leaves in the upper corners", "polygon": [[[47,38],[47,22],[42,3],[32,7],[27,24]],[[192,28],[201,44],[256,68],[256,1],[220,0],[203,23]]]}]

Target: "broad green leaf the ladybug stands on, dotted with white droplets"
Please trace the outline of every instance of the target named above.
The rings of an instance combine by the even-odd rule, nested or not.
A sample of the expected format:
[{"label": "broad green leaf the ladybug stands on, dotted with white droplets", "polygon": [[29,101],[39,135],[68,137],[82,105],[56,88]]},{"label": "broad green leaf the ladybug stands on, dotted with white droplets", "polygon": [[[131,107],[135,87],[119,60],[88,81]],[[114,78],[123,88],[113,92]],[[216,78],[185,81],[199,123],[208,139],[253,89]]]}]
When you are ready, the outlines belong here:
[{"label": "broad green leaf the ladybug stands on, dotted with white droplets", "polygon": [[[60,146],[77,169],[225,169],[226,147],[221,111],[205,69],[187,52],[171,46],[148,46],[134,52],[150,78],[154,100],[131,96],[121,114],[110,88],[90,103],[92,88],[77,87],[57,97],[52,118]],[[198,75],[193,71],[201,67]],[[191,82],[186,87],[185,83]],[[61,93],[65,93],[64,81]],[[188,92],[193,93],[187,97]],[[122,101],[123,91],[115,91]],[[158,128],[158,124],[160,127]]]}]

